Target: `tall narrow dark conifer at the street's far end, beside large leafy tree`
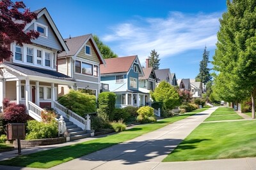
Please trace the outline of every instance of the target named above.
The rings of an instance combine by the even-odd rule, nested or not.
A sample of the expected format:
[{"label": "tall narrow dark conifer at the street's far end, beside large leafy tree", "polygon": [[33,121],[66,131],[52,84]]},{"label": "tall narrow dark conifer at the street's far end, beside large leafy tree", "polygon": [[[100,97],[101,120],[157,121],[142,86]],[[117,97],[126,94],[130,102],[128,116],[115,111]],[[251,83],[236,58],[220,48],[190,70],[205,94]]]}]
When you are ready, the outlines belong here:
[{"label": "tall narrow dark conifer at the street's far end, beside large leafy tree", "polygon": [[208,81],[211,81],[212,77],[210,74],[210,69],[207,67],[209,63],[209,53],[206,50],[206,46],[204,48],[204,53],[203,53],[203,59],[200,61],[200,68],[199,68],[199,73],[196,76],[197,81],[202,81],[202,83],[207,83]]}]

